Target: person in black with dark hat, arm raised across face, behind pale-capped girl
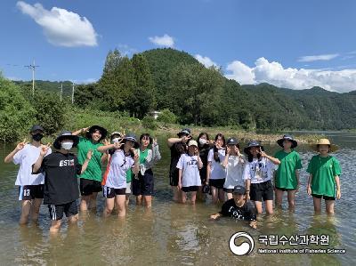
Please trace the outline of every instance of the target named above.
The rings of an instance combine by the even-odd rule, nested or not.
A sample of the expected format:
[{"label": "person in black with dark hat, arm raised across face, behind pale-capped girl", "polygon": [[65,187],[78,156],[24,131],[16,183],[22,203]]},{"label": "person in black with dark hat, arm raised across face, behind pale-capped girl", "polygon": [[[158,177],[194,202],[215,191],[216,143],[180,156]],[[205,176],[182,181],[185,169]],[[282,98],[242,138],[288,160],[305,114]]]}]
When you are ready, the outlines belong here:
[{"label": "person in black with dark hat, arm raised across face, behind pale-capped girl", "polygon": [[174,196],[173,200],[178,201],[181,197],[180,189],[178,188],[178,168],[177,163],[182,154],[187,153],[188,141],[191,139],[190,129],[183,128],[180,133],[177,133],[178,138],[169,138],[167,141],[169,149],[171,149],[171,165],[169,166],[169,184],[171,185]]}]

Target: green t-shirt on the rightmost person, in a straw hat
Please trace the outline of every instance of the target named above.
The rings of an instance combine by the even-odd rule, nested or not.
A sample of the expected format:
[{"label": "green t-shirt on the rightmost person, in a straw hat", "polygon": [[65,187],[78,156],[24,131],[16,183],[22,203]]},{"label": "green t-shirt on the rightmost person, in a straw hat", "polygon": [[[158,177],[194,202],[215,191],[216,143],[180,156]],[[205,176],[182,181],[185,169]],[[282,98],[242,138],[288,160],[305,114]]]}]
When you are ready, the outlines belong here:
[{"label": "green t-shirt on the rightmost person, in a straw hat", "polygon": [[312,173],[312,194],[336,197],[335,176],[341,174],[341,167],[336,157],[313,156],[306,172]]}]

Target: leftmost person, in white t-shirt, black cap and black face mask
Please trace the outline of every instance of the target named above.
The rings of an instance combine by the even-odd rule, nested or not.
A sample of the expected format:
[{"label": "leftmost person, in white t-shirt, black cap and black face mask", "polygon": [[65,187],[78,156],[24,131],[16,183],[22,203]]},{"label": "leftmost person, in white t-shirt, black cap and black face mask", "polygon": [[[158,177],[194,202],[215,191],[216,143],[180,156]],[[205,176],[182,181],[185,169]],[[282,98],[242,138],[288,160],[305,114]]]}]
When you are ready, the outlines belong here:
[{"label": "leftmost person, in white t-shirt, black cap and black face mask", "polygon": [[[44,128],[41,125],[34,125],[30,129],[31,142],[26,139],[19,144],[12,152],[4,158],[5,163],[13,162],[20,165],[15,185],[19,186],[19,200],[21,203],[20,224],[28,222],[29,214],[32,221],[38,219],[39,208],[44,198],[44,174],[32,175],[32,165],[36,162],[40,154],[41,139],[44,136]],[[47,149],[48,155],[52,152]]]}]

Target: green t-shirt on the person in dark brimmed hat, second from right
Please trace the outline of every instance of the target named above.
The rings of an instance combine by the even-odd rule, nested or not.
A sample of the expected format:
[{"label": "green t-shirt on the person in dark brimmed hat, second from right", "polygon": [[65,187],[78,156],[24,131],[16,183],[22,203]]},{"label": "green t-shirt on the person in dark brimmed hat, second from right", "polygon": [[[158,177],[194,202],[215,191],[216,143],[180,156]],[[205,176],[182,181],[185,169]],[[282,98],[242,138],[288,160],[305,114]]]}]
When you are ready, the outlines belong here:
[{"label": "green t-shirt on the person in dark brimmed hat, second from right", "polygon": [[276,172],[275,186],[280,189],[296,189],[298,182],[295,170],[302,169],[302,161],[299,154],[295,150],[287,153],[282,149],[274,157],[280,161]]}]

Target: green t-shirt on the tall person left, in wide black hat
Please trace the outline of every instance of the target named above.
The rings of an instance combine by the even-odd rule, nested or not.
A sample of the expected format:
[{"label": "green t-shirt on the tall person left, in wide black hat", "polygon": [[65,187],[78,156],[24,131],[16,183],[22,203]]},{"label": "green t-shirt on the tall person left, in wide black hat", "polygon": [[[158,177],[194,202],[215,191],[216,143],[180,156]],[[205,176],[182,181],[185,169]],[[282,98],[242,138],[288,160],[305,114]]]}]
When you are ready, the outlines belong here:
[{"label": "green t-shirt on the tall person left, in wide black hat", "polygon": [[78,177],[94,180],[94,181],[101,181],[102,174],[101,174],[101,156],[102,153],[98,151],[98,147],[102,146],[103,144],[79,137],[79,143],[77,145],[77,158],[80,165],[84,164],[86,154],[88,153],[89,149],[93,150],[92,159],[89,161],[88,166],[84,173],[82,173]]}]

